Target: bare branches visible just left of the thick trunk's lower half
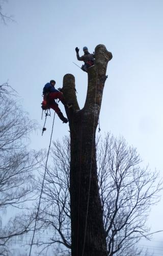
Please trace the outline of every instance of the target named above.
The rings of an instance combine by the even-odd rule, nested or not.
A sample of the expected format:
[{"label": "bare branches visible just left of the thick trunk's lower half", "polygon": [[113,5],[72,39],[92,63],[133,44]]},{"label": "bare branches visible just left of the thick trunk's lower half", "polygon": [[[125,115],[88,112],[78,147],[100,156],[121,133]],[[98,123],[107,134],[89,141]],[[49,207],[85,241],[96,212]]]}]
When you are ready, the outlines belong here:
[{"label": "bare branches visible just left of the thick trunk's lower half", "polygon": [[[46,171],[34,245],[40,248],[41,255],[47,248],[57,253],[55,255],[71,255],[70,144],[67,137],[64,137],[63,145],[59,141],[53,142],[51,156],[53,165]],[[36,180],[37,194],[41,191],[43,175]],[[46,240],[47,236],[49,240]]]}]

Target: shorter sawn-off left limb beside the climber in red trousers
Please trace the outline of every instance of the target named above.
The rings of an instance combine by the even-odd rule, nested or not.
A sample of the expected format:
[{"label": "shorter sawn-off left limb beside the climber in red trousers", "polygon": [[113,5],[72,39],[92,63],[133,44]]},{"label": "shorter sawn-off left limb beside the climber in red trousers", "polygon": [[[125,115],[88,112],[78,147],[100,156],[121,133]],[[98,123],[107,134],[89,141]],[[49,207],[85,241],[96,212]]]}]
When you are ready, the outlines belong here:
[{"label": "shorter sawn-off left limb beside the climber in red trousers", "polygon": [[72,74],[66,74],[63,77],[63,94],[67,102],[73,103],[73,109],[79,110],[75,90],[75,77]]}]

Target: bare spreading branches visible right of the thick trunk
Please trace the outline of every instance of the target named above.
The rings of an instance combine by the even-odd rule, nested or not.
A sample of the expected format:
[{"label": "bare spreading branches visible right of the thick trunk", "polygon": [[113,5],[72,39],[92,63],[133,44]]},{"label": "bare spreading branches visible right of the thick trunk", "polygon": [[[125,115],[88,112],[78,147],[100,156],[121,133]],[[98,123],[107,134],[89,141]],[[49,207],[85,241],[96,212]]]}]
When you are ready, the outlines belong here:
[{"label": "bare spreading branches visible right of the thick trunk", "polygon": [[141,167],[135,148],[109,134],[98,147],[98,170],[108,255],[128,255],[149,234],[146,220],[159,200],[162,180],[156,171]]}]

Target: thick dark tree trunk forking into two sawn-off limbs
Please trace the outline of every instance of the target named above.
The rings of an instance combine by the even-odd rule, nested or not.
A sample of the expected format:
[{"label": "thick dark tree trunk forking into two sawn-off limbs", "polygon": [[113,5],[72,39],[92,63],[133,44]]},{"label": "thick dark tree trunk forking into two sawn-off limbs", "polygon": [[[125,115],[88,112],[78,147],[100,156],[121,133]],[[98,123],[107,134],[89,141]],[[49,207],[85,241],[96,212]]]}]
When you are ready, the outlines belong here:
[{"label": "thick dark tree trunk forking into two sawn-off limbs", "polygon": [[95,48],[95,66],[88,70],[85,106],[79,109],[75,79],[67,74],[63,93],[73,103],[66,110],[70,126],[70,200],[72,256],[106,256],[106,240],[99,197],[95,134],[100,113],[106,68],[112,53],[103,45]]}]

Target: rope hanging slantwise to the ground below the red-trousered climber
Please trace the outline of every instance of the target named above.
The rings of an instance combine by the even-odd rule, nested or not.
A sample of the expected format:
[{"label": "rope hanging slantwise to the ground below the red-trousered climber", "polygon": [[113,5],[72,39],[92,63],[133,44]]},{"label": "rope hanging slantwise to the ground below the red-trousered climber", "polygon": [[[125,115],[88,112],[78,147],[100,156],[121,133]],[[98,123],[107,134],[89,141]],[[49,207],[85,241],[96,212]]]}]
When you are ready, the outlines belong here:
[{"label": "rope hanging slantwise to the ground below the red-trousered climber", "polygon": [[[56,114],[56,112],[55,112],[55,114]],[[40,198],[39,198],[39,205],[38,205],[38,209],[37,209],[37,215],[36,215],[36,220],[35,220],[34,233],[33,233],[33,238],[32,238],[32,243],[31,243],[31,248],[30,248],[30,254],[29,254],[29,256],[31,256],[32,245],[33,245],[33,241],[34,241],[34,237],[35,237],[36,223],[37,223],[37,218],[38,218],[38,214],[39,214],[39,208],[40,208],[40,202],[41,202],[41,195],[42,195],[43,186],[44,186],[44,180],[45,180],[45,175],[46,175],[47,160],[48,160],[48,156],[49,156],[50,145],[51,145],[51,138],[52,138],[52,132],[53,132],[53,126],[54,126],[54,122],[55,122],[55,114],[54,114],[53,122],[52,122],[52,129],[51,129],[50,143],[49,143],[49,148],[48,148],[47,158],[46,158],[46,164],[45,164],[44,178],[43,178],[43,181],[42,181],[41,194],[40,194]],[[47,116],[46,116],[46,117],[47,117]],[[45,122],[46,122],[46,117],[45,117]],[[45,123],[44,123],[44,125],[45,125]]]}]

